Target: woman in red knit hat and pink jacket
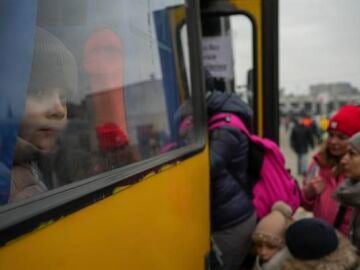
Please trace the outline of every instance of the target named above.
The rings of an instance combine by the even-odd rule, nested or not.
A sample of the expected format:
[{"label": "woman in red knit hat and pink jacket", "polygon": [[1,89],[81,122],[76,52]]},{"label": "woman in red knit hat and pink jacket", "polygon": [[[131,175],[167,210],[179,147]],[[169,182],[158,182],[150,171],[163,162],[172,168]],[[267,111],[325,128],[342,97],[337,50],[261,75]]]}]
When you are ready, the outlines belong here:
[{"label": "woman in red knit hat and pink jacket", "polygon": [[[302,205],[314,216],[334,225],[344,235],[349,233],[351,209],[340,207],[333,193],[345,180],[340,165],[348,139],[360,131],[360,107],[346,105],[330,119],[328,139],[314,156],[302,186]],[[342,210],[340,210],[342,208]]]}]

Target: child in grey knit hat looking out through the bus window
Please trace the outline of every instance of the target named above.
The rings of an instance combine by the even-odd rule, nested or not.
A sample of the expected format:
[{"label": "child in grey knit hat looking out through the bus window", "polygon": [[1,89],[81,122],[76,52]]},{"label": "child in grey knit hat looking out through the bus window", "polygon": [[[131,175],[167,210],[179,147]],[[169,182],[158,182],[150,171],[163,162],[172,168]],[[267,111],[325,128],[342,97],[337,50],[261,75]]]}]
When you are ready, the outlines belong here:
[{"label": "child in grey knit hat looking out through the bus window", "polygon": [[28,94],[18,130],[9,201],[19,201],[90,173],[87,159],[73,151],[82,164],[70,166],[69,152],[60,138],[65,130],[67,99],[77,91],[77,65],[70,50],[48,31],[37,28]]}]

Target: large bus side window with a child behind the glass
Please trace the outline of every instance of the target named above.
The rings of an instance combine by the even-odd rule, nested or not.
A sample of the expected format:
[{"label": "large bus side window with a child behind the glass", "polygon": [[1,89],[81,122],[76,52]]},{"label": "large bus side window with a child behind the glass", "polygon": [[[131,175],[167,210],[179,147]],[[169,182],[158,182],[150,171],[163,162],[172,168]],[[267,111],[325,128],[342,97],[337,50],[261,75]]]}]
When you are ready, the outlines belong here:
[{"label": "large bus side window with a child behind the glass", "polygon": [[195,141],[183,2],[38,1],[8,202]]}]

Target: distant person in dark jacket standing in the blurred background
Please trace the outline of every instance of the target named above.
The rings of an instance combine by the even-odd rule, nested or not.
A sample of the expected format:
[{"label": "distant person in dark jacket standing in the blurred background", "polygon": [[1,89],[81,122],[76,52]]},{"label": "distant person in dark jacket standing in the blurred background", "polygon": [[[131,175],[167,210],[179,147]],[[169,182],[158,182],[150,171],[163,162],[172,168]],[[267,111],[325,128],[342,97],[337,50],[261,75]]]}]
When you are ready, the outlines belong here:
[{"label": "distant person in dark jacket standing in the blurred background", "polygon": [[295,122],[290,134],[291,148],[297,155],[297,169],[299,175],[305,175],[308,165],[308,152],[310,148],[314,148],[314,136],[310,126],[304,121],[306,119],[299,118]]}]

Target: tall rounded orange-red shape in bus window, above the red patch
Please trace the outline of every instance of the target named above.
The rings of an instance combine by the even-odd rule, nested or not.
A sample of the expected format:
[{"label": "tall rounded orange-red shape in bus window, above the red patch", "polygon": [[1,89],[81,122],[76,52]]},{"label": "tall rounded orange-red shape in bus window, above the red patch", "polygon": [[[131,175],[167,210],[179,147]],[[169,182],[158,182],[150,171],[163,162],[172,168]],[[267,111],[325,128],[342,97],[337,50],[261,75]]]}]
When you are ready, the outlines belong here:
[{"label": "tall rounded orange-red shape in bus window, above the red patch", "polygon": [[114,123],[127,133],[122,48],[116,32],[98,29],[85,42],[83,65],[89,75],[95,125]]}]

